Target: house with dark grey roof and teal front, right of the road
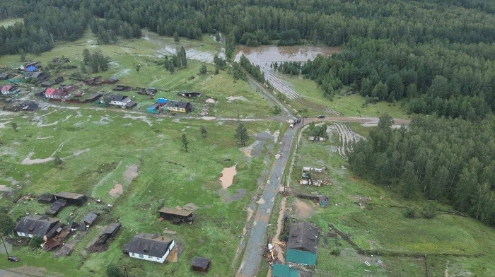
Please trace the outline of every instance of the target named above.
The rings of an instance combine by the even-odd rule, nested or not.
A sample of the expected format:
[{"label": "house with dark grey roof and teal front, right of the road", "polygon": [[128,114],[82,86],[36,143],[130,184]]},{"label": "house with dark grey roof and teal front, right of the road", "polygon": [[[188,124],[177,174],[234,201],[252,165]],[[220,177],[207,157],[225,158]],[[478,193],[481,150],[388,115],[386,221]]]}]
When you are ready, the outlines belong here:
[{"label": "house with dark grey roof and teal front, right of the road", "polygon": [[314,266],[318,246],[318,227],[313,223],[295,223],[289,232],[286,261]]}]

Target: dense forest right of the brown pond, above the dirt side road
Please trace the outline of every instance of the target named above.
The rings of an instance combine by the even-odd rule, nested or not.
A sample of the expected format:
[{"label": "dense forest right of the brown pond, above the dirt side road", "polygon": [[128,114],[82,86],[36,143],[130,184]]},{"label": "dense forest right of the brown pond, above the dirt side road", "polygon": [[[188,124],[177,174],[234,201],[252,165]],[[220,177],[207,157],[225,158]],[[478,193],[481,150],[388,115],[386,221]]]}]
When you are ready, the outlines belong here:
[{"label": "dense forest right of the brown pond, above the dirt side road", "polygon": [[[482,51],[478,51],[481,50]],[[371,102],[409,99],[409,111],[481,119],[495,110],[495,44],[394,43],[356,38],[301,67],[329,98],[349,86]]]}]

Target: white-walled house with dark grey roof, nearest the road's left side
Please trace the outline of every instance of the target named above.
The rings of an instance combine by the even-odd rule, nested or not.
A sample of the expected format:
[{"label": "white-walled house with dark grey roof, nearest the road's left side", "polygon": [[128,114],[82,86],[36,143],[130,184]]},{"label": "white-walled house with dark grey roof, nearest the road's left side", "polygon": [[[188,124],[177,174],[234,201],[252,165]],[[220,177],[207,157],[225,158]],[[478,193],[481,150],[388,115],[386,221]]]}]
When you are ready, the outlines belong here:
[{"label": "white-walled house with dark grey roof, nearest the road's left side", "polygon": [[127,242],[124,246],[124,253],[129,254],[129,257],[132,258],[163,264],[174,246],[175,240],[170,237],[141,232]]}]

